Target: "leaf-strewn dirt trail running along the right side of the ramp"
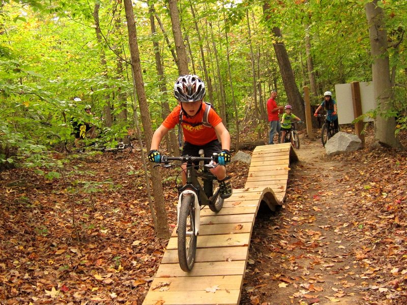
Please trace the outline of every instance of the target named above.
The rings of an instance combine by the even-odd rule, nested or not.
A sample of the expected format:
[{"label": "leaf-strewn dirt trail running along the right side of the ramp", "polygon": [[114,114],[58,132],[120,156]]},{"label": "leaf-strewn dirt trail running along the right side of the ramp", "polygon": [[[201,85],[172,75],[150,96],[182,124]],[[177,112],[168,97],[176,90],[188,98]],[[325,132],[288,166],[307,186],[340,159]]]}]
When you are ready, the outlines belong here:
[{"label": "leaf-strewn dirt trail running along the right side of the ramp", "polygon": [[284,208],[260,209],[251,238],[241,304],[362,304],[370,284],[352,204],[353,169],[301,138]]}]

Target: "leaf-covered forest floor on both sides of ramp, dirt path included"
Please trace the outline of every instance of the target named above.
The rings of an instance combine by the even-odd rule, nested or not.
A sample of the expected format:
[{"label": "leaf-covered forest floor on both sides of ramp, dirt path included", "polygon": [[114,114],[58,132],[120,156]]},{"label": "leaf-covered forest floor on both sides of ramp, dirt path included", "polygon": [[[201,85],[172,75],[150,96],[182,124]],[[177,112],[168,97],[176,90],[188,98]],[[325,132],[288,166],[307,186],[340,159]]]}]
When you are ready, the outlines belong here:
[{"label": "leaf-covered forest floor on both sides of ramp, dirt path included", "polygon": [[[283,208],[258,211],[241,304],[406,304],[406,154],[370,149],[367,137],[328,157],[319,139],[300,139]],[[228,166],[234,188],[247,170]],[[172,230],[174,172],[161,172]],[[0,172],[0,303],[141,303],[166,242],[155,238],[140,149],[83,155],[63,174]]]}]

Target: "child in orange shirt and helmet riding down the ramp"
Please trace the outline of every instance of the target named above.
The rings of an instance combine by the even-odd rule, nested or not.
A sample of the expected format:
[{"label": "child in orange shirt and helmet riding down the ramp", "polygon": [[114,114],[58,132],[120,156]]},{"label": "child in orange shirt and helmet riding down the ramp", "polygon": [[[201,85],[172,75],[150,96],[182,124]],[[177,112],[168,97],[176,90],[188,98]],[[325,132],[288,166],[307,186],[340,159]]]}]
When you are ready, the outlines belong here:
[{"label": "child in orange shirt and helmet riding down the ramp", "polygon": [[[232,195],[230,177],[226,175],[225,168],[225,165],[230,162],[230,135],[223,125],[222,119],[211,105],[202,102],[205,93],[205,84],[198,76],[184,75],[177,79],[174,85],[174,96],[179,104],[154,132],[149,160],[156,163],[161,162],[161,155],[158,151],[160,142],[170,129],[180,123],[181,118],[184,132],[182,155],[199,157],[199,149],[205,151],[205,157],[212,157],[213,153],[217,153],[218,166],[210,170],[218,178],[220,197],[226,199]],[[211,107],[207,118],[210,127],[202,124],[206,107]],[[182,181],[185,185],[186,164],[182,165],[182,169]]]}]

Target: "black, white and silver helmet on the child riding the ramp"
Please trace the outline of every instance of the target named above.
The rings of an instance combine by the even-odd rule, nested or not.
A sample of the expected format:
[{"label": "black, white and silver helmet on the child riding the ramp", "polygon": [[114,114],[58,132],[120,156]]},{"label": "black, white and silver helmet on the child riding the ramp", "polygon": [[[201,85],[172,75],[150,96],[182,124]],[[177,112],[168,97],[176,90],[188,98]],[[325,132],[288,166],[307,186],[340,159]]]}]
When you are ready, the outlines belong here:
[{"label": "black, white and silver helmet on the child riding the ramp", "polygon": [[180,102],[196,102],[205,97],[205,84],[196,75],[180,76],[174,84],[174,96]]}]

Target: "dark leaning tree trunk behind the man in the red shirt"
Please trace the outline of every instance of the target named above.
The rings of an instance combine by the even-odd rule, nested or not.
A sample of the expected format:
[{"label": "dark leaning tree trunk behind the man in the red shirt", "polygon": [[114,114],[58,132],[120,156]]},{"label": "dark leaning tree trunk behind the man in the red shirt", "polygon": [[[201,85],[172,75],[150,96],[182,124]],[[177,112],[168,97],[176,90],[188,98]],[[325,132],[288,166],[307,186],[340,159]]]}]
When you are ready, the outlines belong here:
[{"label": "dark leaning tree trunk behind the man in the red shirt", "polygon": [[[269,4],[265,3],[263,5],[263,12],[265,14],[266,20],[270,19],[269,9]],[[281,78],[283,80],[288,103],[294,107],[294,111],[296,114],[298,113],[297,115],[299,117],[305,117],[304,100],[301,97],[300,91],[298,90],[294,72],[289,62],[287,50],[285,49],[285,45],[282,42],[280,28],[274,26],[272,28],[272,32],[276,37],[276,42],[273,43],[273,47],[276,53],[278,67],[280,68]]]}]

